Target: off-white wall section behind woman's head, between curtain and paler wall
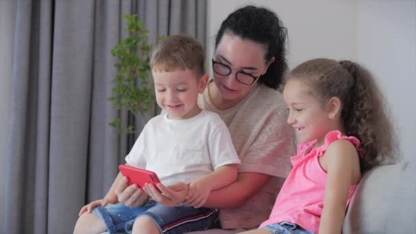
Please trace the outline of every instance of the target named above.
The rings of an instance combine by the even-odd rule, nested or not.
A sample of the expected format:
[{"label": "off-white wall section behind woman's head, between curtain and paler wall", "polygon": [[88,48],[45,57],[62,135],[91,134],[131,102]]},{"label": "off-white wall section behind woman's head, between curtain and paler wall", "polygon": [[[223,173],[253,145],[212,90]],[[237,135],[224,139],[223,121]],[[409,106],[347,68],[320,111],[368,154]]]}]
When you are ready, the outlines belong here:
[{"label": "off-white wall section behind woman's head, between curtain and paler wall", "polygon": [[[351,58],[356,56],[356,0],[209,0],[207,54],[221,22],[230,12],[247,4],[274,10],[289,32],[289,66],[314,57]],[[339,45],[342,47],[339,47]]]}]

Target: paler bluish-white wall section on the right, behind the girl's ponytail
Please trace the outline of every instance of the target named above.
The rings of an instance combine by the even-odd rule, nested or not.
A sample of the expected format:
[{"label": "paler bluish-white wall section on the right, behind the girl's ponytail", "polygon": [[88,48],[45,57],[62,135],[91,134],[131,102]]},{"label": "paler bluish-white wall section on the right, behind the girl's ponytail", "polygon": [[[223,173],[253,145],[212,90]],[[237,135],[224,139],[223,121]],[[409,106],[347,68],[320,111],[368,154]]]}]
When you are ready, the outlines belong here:
[{"label": "paler bluish-white wall section on the right, behind the girl's ponytail", "polygon": [[378,78],[404,157],[416,159],[416,1],[359,3],[357,57]]}]

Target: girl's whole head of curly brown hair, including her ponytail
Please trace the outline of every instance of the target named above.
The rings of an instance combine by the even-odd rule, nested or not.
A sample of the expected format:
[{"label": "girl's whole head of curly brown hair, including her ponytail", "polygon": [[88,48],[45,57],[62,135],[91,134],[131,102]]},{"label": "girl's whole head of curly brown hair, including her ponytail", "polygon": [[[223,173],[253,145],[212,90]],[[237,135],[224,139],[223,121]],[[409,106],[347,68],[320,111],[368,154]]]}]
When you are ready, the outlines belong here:
[{"label": "girl's whole head of curly brown hair, including her ponytail", "polygon": [[388,108],[371,73],[359,64],[343,60],[315,59],[291,70],[289,79],[299,79],[322,104],[341,100],[341,121],[346,135],[361,142],[361,171],[398,159],[398,143]]}]

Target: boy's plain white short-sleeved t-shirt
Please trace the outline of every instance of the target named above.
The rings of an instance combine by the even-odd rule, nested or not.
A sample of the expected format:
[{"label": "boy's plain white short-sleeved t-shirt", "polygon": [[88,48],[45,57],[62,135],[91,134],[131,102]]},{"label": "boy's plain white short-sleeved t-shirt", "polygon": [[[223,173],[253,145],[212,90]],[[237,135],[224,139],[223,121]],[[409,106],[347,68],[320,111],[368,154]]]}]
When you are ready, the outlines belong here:
[{"label": "boy's plain white short-sleeved t-shirt", "polygon": [[127,164],[156,172],[161,183],[192,181],[227,164],[240,164],[229,130],[213,112],[185,120],[160,114],[147,122]]}]

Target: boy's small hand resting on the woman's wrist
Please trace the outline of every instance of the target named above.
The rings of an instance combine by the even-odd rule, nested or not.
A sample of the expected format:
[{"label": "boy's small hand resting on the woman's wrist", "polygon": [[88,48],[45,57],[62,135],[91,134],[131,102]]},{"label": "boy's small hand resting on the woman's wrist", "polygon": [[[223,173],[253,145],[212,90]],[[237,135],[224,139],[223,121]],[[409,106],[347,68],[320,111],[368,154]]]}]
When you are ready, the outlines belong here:
[{"label": "boy's small hand resting on the woman's wrist", "polygon": [[207,202],[210,192],[211,188],[206,183],[203,183],[203,180],[197,179],[192,181],[185,203],[195,208],[202,207]]}]

